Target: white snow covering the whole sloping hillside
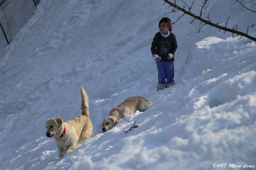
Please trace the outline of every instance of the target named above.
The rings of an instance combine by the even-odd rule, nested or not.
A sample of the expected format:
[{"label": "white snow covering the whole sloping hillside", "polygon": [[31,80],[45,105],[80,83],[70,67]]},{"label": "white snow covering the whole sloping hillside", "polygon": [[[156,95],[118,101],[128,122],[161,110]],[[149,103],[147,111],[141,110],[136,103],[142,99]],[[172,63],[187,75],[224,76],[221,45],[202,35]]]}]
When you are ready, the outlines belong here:
[{"label": "white snow covering the whole sloping hillside", "polygon": [[[256,1],[245,0],[254,9]],[[176,85],[156,91],[150,52],[162,1],[40,1],[0,52],[0,169],[216,169],[256,164],[256,44],[184,16],[173,25]],[[193,12],[201,10],[195,3]],[[210,1],[204,16],[256,36],[255,14],[235,1]],[[167,15],[165,15],[167,14]],[[58,158],[48,118],[80,115],[89,95],[93,134]],[[155,103],[107,132],[109,110],[129,96]]]}]

